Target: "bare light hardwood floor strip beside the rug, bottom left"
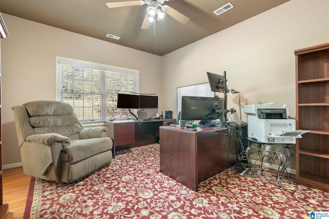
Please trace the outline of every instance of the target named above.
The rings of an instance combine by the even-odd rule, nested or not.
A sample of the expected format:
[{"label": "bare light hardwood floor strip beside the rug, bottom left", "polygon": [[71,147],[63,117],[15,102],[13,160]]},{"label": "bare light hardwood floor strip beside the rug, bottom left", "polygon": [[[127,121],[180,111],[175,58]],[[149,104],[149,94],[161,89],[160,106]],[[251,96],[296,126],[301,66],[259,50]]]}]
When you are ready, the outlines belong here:
[{"label": "bare light hardwood floor strip beside the rug, bottom left", "polygon": [[25,175],[22,167],[3,171],[4,203],[9,205],[7,219],[22,219],[31,176]]}]

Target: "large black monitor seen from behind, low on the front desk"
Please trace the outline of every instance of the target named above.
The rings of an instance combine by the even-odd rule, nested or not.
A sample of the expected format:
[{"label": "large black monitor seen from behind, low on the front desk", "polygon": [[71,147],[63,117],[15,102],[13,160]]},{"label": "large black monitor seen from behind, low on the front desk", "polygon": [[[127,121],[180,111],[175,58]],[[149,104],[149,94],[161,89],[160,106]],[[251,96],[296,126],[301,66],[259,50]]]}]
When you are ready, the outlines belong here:
[{"label": "large black monitor seen from behind, low on the front desk", "polygon": [[215,120],[222,118],[221,113],[215,109],[224,109],[224,98],[182,96],[181,119],[182,120]]}]

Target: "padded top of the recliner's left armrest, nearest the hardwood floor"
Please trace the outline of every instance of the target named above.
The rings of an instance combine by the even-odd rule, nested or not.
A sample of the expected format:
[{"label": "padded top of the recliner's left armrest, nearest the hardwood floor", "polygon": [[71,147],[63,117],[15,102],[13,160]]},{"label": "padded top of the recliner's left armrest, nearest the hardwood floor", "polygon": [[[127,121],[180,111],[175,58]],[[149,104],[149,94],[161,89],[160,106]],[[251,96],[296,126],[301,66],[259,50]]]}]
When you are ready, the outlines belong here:
[{"label": "padded top of the recliner's left armrest, nearest the hardwood floor", "polygon": [[70,143],[70,139],[57,133],[32,134],[26,138],[27,142],[36,142],[51,146],[53,143]]}]

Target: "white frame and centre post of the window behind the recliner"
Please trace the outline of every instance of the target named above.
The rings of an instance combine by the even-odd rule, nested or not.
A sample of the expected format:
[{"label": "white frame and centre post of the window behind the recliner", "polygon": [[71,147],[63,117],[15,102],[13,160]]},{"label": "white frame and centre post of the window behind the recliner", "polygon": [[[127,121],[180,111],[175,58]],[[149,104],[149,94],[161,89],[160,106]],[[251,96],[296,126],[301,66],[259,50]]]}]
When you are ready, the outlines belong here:
[{"label": "white frame and centre post of the window behind the recliner", "polygon": [[[137,76],[136,92],[139,93],[139,70],[122,68],[122,67],[117,67],[117,66],[110,66],[110,65],[93,63],[93,62],[88,62],[88,61],[82,61],[82,60],[74,59],[74,58],[56,56],[56,101],[61,101],[61,64],[77,65],[79,67],[136,75]],[[104,82],[104,89],[105,89],[105,82]],[[102,98],[103,98],[103,104],[102,104],[103,113],[101,115],[101,120],[96,121],[96,122],[107,121],[106,93],[105,92],[102,95]],[[90,122],[93,122],[93,120],[81,120],[81,122],[90,123]]]}]

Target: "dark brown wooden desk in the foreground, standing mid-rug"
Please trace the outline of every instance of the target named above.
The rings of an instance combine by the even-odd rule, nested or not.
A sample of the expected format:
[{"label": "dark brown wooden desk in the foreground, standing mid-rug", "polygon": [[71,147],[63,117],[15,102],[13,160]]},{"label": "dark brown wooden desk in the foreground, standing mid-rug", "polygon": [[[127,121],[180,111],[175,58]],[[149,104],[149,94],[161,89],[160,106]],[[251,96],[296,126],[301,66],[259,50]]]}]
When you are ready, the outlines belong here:
[{"label": "dark brown wooden desk in the foreground, standing mid-rug", "polygon": [[236,141],[229,141],[226,132],[227,128],[218,127],[188,131],[161,126],[160,172],[197,191],[198,183],[233,166],[237,159]]}]

